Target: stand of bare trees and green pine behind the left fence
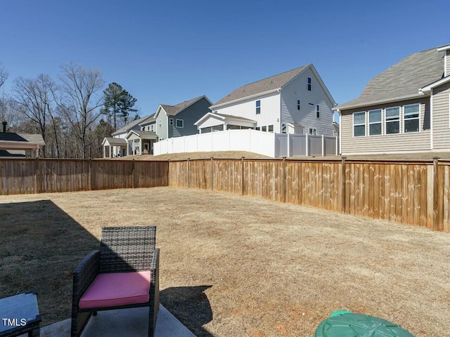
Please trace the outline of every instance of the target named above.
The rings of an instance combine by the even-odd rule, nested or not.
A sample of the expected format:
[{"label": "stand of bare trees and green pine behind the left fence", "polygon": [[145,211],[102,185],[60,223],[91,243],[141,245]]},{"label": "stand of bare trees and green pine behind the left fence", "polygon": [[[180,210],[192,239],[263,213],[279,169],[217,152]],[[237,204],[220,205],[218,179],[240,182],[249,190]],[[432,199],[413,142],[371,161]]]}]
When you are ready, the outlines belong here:
[{"label": "stand of bare trees and green pine behind the left fence", "polygon": [[103,138],[139,118],[136,98],[114,82],[104,89],[100,70],[74,62],[62,65],[56,80],[47,74],[18,77],[5,93],[7,80],[0,64],[0,121],[7,132],[41,134],[41,157],[102,157]]}]

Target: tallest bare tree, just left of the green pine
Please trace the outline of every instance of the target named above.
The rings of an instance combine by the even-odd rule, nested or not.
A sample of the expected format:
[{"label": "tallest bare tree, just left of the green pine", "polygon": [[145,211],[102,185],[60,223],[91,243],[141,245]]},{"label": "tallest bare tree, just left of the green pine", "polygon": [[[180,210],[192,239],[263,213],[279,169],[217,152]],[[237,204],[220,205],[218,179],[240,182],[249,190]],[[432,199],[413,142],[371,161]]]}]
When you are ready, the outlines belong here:
[{"label": "tallest bare tree, just left of the green pine", "polygon": [[73,62],[61,67],[60,88],[56,103],[81,143],[82,158],[86,158],[89,130],[101,115],[103,77],[100,70],[86,70]]}]

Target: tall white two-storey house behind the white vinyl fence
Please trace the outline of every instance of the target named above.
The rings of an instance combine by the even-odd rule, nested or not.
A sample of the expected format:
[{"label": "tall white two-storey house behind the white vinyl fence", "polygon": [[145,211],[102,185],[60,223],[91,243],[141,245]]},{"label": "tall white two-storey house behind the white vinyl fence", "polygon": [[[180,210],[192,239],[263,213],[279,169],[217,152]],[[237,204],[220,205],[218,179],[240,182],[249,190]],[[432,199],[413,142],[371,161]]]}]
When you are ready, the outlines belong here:
[{"label": "tall white two-storey house behind the white vinyl fence", "polygon": [[283,72],[232,91],[196,121],[200,133],[254,128],[274,133],[333,136],[335,100],[314,65]]}]

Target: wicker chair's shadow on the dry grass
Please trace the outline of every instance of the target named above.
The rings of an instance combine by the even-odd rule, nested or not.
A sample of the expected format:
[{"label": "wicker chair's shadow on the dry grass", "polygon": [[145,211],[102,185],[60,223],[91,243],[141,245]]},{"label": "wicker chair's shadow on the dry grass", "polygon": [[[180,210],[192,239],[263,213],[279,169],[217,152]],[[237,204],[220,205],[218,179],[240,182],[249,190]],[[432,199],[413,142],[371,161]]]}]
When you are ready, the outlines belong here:
[{"label": "wicker chair's shadow on the dry grass", "polygon": [[203,325],[212,321],[212,310],[205,290],[211,286],[178,286],[160,291],[160,303],[165,306],[195,336],[211,337]]}]

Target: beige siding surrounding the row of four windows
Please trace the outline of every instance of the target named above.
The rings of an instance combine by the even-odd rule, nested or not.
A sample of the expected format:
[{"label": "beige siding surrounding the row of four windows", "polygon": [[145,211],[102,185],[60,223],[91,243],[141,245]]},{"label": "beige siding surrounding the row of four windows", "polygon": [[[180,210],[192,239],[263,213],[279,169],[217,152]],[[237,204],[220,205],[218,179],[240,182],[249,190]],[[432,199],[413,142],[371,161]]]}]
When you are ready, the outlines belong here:
[{"label": "beige siding surrounding the row of four windows", "polygon": [[[386,107],[397,107],[414,103],[420,103],[420,132],[399,133],[397,135],[353,137],[353,113],[364,112]],[[403,108],[400,109],[400,130],[403,131]],[[382,133],[385,133],[385,114],[383,110]],[[430,150],[430,98],[421,100],[409,100],[366,107],[364,109],[353,109],[342,112],[342,154],[352,153],[380,153],[380,152],[420,152]],[[368,114],[366,115],[366,135],[368,135]]]}]

